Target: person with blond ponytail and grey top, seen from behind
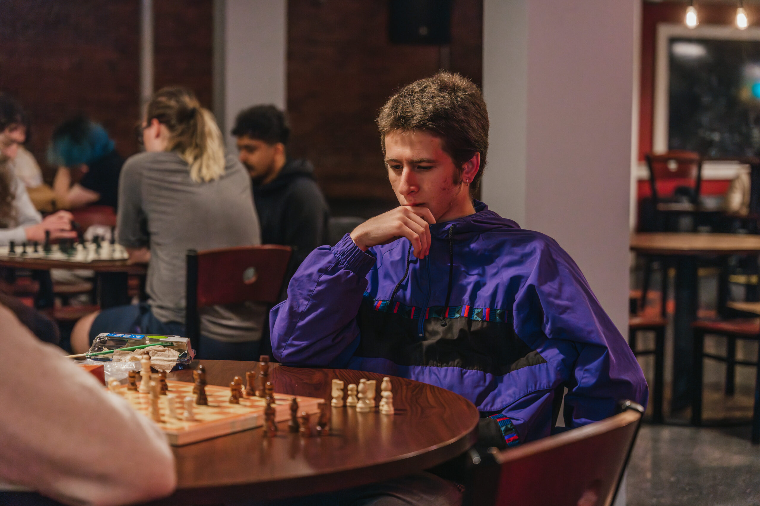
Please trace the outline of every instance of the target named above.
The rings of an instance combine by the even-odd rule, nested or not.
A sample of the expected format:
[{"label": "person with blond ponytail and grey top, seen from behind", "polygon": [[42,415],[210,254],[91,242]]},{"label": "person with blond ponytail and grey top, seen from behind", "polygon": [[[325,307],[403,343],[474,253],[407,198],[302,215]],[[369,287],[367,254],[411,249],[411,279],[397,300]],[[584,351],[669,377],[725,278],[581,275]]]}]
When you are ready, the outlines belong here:
[{"label": "person with blond ponytail and grey top, seen from behind", "polygon": [[[71,332],[77,353],[100,332],[184,335],[187,250],[261,244],[248,175],[224,155],[213,115],[192,92],[160,90],[147,108],[147,152],[119,180],[118,237],[131,262],[147,262],[147,304],[85,316]],[[257,303],[201,310],[203,358],[255,360],[266,316]]]}]

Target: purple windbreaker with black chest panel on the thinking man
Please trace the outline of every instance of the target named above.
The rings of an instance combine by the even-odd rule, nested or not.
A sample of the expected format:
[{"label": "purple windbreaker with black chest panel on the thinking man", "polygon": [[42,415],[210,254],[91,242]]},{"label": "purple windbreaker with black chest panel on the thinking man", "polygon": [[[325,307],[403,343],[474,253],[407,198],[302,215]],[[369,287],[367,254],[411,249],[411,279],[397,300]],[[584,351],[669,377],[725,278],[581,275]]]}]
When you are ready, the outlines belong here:
[{"label": "purple windbreaker with black chest panel on the thinking man", "polygon": [[646,406],[641,367],[572,258],[475,204],[431,225],[425,259],[405,238],[365,253],[349,234],[312,251],[271,310],[274,357],[448,388],[521,442],[549,435],[559,385],[568,426]]}]

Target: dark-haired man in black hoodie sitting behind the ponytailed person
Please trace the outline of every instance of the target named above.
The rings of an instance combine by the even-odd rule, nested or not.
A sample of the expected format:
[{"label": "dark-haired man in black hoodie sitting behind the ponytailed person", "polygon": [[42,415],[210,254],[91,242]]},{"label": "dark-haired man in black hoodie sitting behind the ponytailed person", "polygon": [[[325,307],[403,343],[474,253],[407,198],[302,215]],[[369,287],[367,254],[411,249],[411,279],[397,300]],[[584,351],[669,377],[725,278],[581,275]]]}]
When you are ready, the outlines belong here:
[{"label": "dark-haired man in black hoodie sitting behind the ponytailed person", "polygon": [[233,135],[240,162],[248,168],[261,222],[261,244],[293,247],[293,272],[316,247],[328,244],[329,209],[308,160],[289,159],[290,126],[274,105],[255,105],[237,115]]}]

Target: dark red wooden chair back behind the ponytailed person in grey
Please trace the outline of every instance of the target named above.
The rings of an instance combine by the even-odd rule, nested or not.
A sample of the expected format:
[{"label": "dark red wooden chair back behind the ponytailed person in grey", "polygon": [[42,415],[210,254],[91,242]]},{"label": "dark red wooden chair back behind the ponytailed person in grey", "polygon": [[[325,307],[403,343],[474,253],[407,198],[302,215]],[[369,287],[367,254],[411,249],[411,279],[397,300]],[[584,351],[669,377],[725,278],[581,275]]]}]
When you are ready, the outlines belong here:
[{"label": "dark red wooden chair back behind the ponytailed person in grey", "polygon": [[[190,339],[196,357],[203,357],[199,348],[201,319],[198,310],[246,301],[277,303],[291,253],[290,247],[274,244],[188,250],[185,337]],[[269,341],[268,328],[268,322],[264,321],[261,336],[264,350]]]}]

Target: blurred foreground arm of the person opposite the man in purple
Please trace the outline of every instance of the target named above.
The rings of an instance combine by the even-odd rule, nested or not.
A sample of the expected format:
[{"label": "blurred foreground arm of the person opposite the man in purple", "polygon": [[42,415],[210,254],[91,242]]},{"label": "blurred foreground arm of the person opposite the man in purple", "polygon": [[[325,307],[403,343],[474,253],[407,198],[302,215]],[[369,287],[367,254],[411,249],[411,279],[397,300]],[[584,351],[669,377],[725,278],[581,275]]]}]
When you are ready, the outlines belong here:
[{"label": "blurred foreground arm of the person opposite the man in purple", "polygon": [[169,495],[163,433],[0,306],[0,480],[65,504],[131,504]]}]

